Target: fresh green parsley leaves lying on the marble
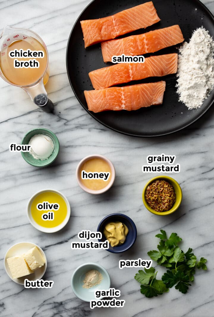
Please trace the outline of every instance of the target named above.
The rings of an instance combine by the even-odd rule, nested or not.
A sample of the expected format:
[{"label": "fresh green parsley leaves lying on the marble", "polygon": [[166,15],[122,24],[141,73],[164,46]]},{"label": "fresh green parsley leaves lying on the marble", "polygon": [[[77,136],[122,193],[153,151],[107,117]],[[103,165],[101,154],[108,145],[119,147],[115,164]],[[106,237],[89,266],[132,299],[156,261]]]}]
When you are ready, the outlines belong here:
[{"label": "fresh green parsley leaves lying on the marble", "polygon": [[207,260],[201,257],[197,261],[191,248],[184,253],[178,246],[182,239],[177,233],[172,233],[168,239],[166,232],[160,231],[161,233],[156,235],[157,238],[160,238],[157,245],[158,250],[151,250],[148,255],[152,260],[157,261],[158,265],[164,266],[168,270],[162,276],[162,280],[156,279],[157,271],[155,272],[153,267],[138,271],[135,279],[141,283],[140,291],[146,297],[161,295],[168,292],[169,288],[173,286],[185,294],[191,286],[190,281],[194,281],[195,269],[206,270]]}]

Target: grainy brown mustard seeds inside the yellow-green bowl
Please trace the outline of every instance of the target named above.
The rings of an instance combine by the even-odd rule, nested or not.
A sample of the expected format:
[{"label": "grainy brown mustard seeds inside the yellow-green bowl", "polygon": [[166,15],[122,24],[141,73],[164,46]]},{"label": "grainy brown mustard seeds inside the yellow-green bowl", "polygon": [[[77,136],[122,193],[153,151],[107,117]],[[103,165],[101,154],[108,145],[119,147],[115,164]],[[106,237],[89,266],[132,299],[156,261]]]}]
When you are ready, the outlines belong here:
[{"label": "grainy brown mustard seeds inside the yellow-green bowl", "polygon": [[170,210],[175,198],[172,185],[162,179],[154,181],[146,189],[146,201],[157,212]]}]

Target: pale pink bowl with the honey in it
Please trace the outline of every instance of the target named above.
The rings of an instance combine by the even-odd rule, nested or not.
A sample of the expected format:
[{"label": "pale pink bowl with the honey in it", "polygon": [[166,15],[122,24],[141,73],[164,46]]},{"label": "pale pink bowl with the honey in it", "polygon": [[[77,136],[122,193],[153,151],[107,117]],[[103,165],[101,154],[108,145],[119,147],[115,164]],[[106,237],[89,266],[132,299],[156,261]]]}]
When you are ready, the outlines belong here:
[{"label": "pale pink bowl with the honey in it", "polygon": [[79,186],[89,194],[108,191],[115,180],[115,168],[103,155],[89,155],[82,159],[76,169]]}]

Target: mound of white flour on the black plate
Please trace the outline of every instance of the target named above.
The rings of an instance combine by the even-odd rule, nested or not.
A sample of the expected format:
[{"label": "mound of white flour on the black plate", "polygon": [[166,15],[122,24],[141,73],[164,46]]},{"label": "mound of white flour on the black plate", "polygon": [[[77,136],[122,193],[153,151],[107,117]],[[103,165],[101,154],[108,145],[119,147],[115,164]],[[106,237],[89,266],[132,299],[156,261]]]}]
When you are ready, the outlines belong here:
[{"label": "mound of white flour on the black plate", "polygon": [[189,109],[200,108],[214,87],[214,41],[203,27],[179,49],[177,93]]}]

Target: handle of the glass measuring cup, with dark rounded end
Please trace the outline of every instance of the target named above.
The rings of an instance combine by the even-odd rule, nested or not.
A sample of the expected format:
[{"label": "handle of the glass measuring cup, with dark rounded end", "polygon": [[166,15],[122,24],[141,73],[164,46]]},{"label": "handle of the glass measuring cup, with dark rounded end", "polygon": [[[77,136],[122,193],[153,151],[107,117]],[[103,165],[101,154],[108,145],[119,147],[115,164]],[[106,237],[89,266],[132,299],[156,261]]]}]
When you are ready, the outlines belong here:
[{"label": "handle of the glass measuring cup, with dark rounded end", "polygon": [[44,88],[43,78],[34,86],[22,87],[30,96],[31,100],[45,112],[53,113],[54,105],[48,99],[47,92]]}]

